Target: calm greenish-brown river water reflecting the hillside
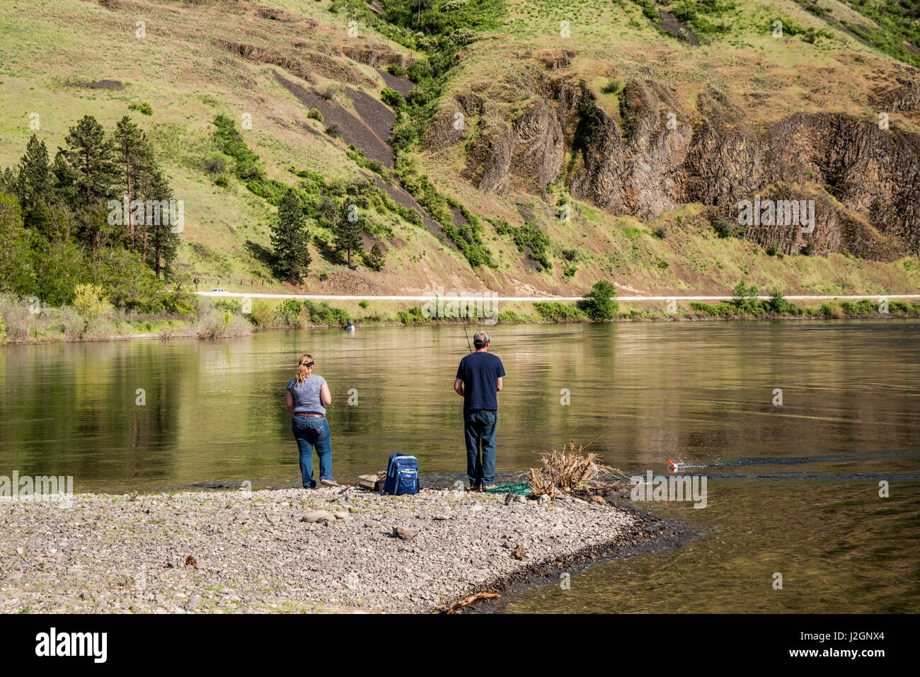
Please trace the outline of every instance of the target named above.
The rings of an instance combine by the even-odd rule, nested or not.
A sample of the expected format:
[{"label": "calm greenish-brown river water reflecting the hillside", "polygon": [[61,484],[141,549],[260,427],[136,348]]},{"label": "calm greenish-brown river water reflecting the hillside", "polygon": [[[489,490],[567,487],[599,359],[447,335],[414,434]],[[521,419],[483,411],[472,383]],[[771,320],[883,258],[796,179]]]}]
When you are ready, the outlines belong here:
[{"label": "calm greenish-brown river water reflecting the hillside", "polygon": [[[596,565],[569,590],[521,591],[503,610],[920,609],[920,322],[489,331],[508,373],[500,473],[622,423],[592,446],[608,464],[663,475],[666,459],[681,460],[707,477],[703,510],[643,506],[698,527],[695,540]],[[395,451],[441,484],[464,476],[452,388],[462,327],[5,346],[0,475],[74,476],[76,491],[297,486],[283,395],[301,352],[332,390],[339,482],[383,469]]]}]

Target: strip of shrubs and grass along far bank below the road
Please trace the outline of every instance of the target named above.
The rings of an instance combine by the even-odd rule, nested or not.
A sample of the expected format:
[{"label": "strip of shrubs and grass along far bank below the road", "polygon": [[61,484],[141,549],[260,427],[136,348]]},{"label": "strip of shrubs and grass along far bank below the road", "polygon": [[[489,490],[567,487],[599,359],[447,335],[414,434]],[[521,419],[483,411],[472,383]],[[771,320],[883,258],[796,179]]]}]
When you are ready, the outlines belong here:
[{"label": "strip of shrubs and grass along far bank below the road", "polygon": [[[193,314],[137,315],[114,309],[104,293],[93,285],[78,285],[74,304],[52,307],[35,300],[0,294],[0,344],[29,344],[115,340],[119,338],[240,338],[268,329],[345,327],[410,327],[482,323],[492,317],[498,324],[546,324],[569,322],[655,322],[742,319],[841,319],[920,317],[920,304],[869,299],[857,303],[829,300],[817,305],[789,302],[778,290],[770,298],[758,299],[756,285],[739,282],[731,300],[715,304],[691,302],[652,307],[619,304],[614,287],[601,281],[583,301],[565,304],[558,301],[507,303],[504,310],[485,309],[480,304],[476,316],[453,314],[432,316],[424,306],[398,307],[398,302],[362,300],[346,307],[326,302],[283,299],[272,304],[265,299],[201,298]],[[373,304],[373,308],[372,308]],[[449,304],[448,304],[449,307]],[[456,310],[456,309],[454,309]],[[483,316],[485,313],[485,316]]]}]

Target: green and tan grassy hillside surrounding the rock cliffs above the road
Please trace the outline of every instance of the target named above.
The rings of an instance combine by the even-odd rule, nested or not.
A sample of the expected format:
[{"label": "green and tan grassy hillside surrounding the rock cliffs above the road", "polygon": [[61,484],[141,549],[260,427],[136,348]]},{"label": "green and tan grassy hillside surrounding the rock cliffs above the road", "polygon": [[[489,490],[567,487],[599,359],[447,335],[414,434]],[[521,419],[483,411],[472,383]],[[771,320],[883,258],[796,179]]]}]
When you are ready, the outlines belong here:
[{"label": "green and tan grassy hillside surrounding the rock cliffs above the road", "polygon": [[[486,286],[500,293],[577,294],[600,279],[615,281],[622,293],[725,293],[741,279],[786,293],[920,288],[916,258],[771,256],[750,241],[717,236],[699,204],[642,221],[572,199],[564,176],[542,189],[512,186],[503,194],[485,194],[465,176],[467,142],[481,129],[477,116],[515,120],[533,103],[529,83],[551,72],[546,60],[560,54],[612,112],[620,107],[618,85],[641,77],[672,87],[688,109],[700,92],[715,87],[742,105],[740,124],[828,110],[875,120],[886,88],[916,76],[908,65],[914,52],[891,42],[913,35],[915,16],[898,18],[878,3],[835,0],[818,1],[827,12],[785,0],[466,4],[481,6],[477,27],[464,29],[453,67],[431,77],[411,69],[437,62],[431,35],[414,31],[412,17],[397,16],[387,2],[2,0],[0,167],[17,163],[33,133],[51,153],[84,115],[109,129],[130,114],[185,201],[177,268],[198,278],[201,289],[370,295]],[[443,17],[459,11],[433,5]],[[141,20],[144,37],[135,23]],[[772,33],[775,20],[784,24],[782,38]],[[865,35],[854,26],[864,27]],[[683,37],[681,27],[689,31]],[[882,33],[890,40],[881,40]],[[414,163],[408,178],[398,162],[387,164],[384,157],[374,164],[363,156],[373,160],[389,141],[382,110],[394,117],[398,112],[392,99],[389,106],[374,102],[385,87],[402,88],[405,96],[412,86],[386,72],[387,65],[396,74],[408,70],[437,95],[399,112],[397,132],[417,124],[423,139],[439,116],[454,116],[454,100],[470,92],[486,92],[490,100],[466,120],[464,143],[436,148],[420,141],[398,151],[402,162]],[[142,104],[150,115],[138,109]],[[320,121],[309,116],[311,109],[327,113]],[[33,114],[37,129],[30,128]],[[330,114],[344,122],[331,122]],[[918,131],[916,109],[890,114],[892,126]],[[258,186],[238,175],[236,159],[215,141],[219,115],[236,122],[259,156],[265,177]],[[339,129],[330,129],[333,124]],[[349,142],[363,155],[350,152]],[[424,181],[415,191],[403,189],[424,177],[431,189]],[[262,185],[297,187],[311,204],[363,196],[373,222],[364,246],[384,247],[382,270],[362,264],[349,270],[330,251],[328,227],[308,218],[312,264],[305,281],[275,279],[269,224],[277,200],[257,194]],[[570,206],[569,221],[558,218],[562,202]],[[466,247],[478,247],[477,236],[491,266],[470,264]],[[467,244],[458,245],[460,238]]]}]

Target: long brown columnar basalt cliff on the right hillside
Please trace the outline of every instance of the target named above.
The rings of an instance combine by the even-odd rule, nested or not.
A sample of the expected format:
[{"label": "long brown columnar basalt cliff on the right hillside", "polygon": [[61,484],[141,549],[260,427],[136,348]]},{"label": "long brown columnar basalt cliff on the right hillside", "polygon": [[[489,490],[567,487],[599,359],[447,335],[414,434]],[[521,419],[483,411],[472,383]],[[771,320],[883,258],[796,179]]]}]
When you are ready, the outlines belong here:
[{"label": "long brown columnar basalt cliff on the right hillside", "polygon": [[[914,107],[917,91],[913,79],[886,90],[891,110]],[[546,75],[533,95],[504,118],[488,92],[455,95],[427,143],[465,143],[465,176],[488,193],[539,195],[564,175],[572,196],[645,220],[691,202],[734,218],[755,195],[815,200],[811,233],[777,225],[745,236],[785,251],[811,242],[867,258],[920,253],[920,137],[893,123],[828,112],[759,124],[719,91],[687,110],[650,79],[628,81],[618,105],[564,74]],[[457,111],[475,123],[458,129]]]}]

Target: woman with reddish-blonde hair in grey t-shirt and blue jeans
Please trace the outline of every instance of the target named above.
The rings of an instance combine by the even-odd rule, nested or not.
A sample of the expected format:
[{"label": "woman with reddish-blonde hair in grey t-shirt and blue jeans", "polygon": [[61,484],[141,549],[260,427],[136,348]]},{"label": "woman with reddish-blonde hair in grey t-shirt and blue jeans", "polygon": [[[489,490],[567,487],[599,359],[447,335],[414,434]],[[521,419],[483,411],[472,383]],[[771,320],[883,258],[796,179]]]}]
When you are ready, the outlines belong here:
[{"label": "woman with reddish-blonde hair in grey t-shirt and blue jeans", "polygon": [[315,489],[313,479],[313,448],[319,456],[319,483],[338,487],[332,479],[332,440],[326,407],[332,396],[326,379],[313,373],[313,357],[301,355],[297,360],[297,373],[288,382],[285,401],[293,409],[291,428],[293,439],[300,449],[300,474],[305,489]]}]

